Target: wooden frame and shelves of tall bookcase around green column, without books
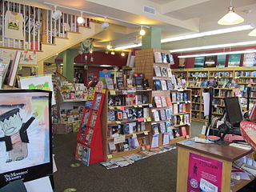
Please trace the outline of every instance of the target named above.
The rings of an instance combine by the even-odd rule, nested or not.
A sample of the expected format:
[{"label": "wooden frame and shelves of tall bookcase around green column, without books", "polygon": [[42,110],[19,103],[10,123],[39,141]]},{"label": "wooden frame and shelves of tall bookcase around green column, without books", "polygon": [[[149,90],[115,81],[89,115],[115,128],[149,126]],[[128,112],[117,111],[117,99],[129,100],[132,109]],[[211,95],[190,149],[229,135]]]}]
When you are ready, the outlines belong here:
[{"label": "wooden frame and shelves of tall bookcase around green column, without books", "polygon": [[[166,68],[170,68],[170,63],[160,63],[160,62],[155,62],[155,58],[154,58],[154,53],[155,52],[160,52],[160,53],[163,53],[163,54],[170,54],[169,51],[166,51],[166,50],[158,50],[158,49],[149,49],[149,50],[138,50],[136,51],[135,55],[135,67],[134,67],[134,70],[136,71],[136,73],[142,73],[145,75],[145,78],[148,79],[148,82],[149,82],[149,86],[150,88],[152,88],[152,99],[151,101],[154,103],[154,97],[170,97],[171,98],[171,92],[178,92],[178,93],[184,93],[186,92],[186,94],[188,95],[188,99],[185,103],[185,101],[180,101],[180,102],[174,102],[172,101],[171,103],[171,107],[174,105],[174,104],[181,104],[182,102],[184,103],[185,107],[184,109],[186,108],[186,112],[184,113],[177,113],[177,114],[174,114],[174,111],[172,111],[172,118],[174,118],[174,116],[177,116],[177,115],[183,115],[183,114],[188,114],[188,117],[189,117],[189,120],[188,122],[186,123],[186,125],[183,125],[183,124],[174,124],[174,119],[170,118],[170,119],[166,119],[166,120],[162,120],[160,118],[159,121],[155,121],[154,119],[154,110],[166,110],[166,109],[169,109],[170,106],[164,106],[164,107],[157,107],[154,103],[153,107],[150,108],[150,114],[152,115],[152,122],[151,122],[151,131],[150,131],[150,138],[153,138],[155,133],[154,133],[154,124],[156,123],[161,123],[161,122],[172,122],[171,124],[171,129],[174,130],[174,129],[179,129],[181,128],[182,126],[183,127],[186,127],[186,136],[185,135],[182,135],[180,134],[178,137],[175,137],[173,139],[170,140],[169,144],[173,144],[175,142],[180,142],[186,138],[189,138],[190,136],[190,121],[191,121],[191,111],[190,111],[190,106],[191,106],[191,90],[155,90],[155,87],[154,87],[154,81],[156,80],[160,80],[160,81],[168,81],[168,80],[171,80],[171,78],[168,76],[168,77],[160,77],[158,75],[155,74],[155,71],[154,71],[154,67],[155,66],[158,66],[158,67],[166,67]],[[160,113],[159,113],[160,114]],[[182,117],[182,116],[181,116]],[[161,124],[160,124],[161,125]],[[161,126],[160,126],[161,127]],[[164,137],[164,133],[161,131],[161,128],[159,128],[159,131],[158,131],[158,146],[162,146],[163,145],[163,137]],[[152,143],[151,143],[152,144]],[[152,145],[151,145],[152,146]]]}]

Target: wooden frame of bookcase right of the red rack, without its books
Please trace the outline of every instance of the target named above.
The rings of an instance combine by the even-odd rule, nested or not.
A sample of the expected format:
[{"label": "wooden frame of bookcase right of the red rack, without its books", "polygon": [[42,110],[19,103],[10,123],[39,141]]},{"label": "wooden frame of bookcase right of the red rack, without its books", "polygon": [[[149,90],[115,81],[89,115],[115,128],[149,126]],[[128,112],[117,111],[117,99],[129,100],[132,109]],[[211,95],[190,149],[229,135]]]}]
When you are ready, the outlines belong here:
[{"label": "wooden frame of bookcase right of the red rack, without its books", "polygon": [[[122,157],[124,155],[128,155],[128,154],[134,154],[134,153],[138,153],[139,151],[142,150],[142,147],[137,147],[135,149],[131,149],[129,147],[129,150],[126,151],[122,151],[122,150],[118,150],[118,144],[115,144],[115,146],[117,147],[117,150],[110,150],[110,146],[109,146],[109,142],[114,142],[114,138],[110,133],[111,133],[111,126],[117,125],[117,126],[121,126],[123,129],[123,126],[127,123],[132,123],[132,122],[145,122],[145,130],[139,130],[139,131],[133,131],[130,134],[122,134],[121,131],[118,134],[118,137],[120,136],[125,136],[126,139],[132,138],[134,136],[136,137],[145,137],[146,140],[149,142],[148,145],[150,145],[150,122],[151,122],[151,117],[150,119],[145,118],[144,116],[142,118],[134,118],[134,119],[126,119],[126,120],[118,120],[115,119],[116,121],[110,121],[109,119],[109,113],[110,110],[112,111],[122,111],[122,113],[124,112],[123,110],[136,110],[136,109],[142,109],[142,108],[149,108],[151,106],[151,90],[147,89],[147,90],[133,90],[132,93],[125,91],[123,92],[123,90],[115,90],[114,94],[113,94],[113,90],[107,90],[106,91],[106,98],[105,101],[103,103],[102,106],[102,117],[101,117],[101,122],[102,122],[102,146],[103,146],[103,156],[104,156],[104,160],[110,160],[111,158],[119,158]],[[126,94],[146,94],[147,98],[148,98],[148,102],[147,103],[142,103],[142,104],[134,104],[134,105],[125,105],[126,103],[123,101],[120,105],[118,106],[111,106],[109,101],[110,101],[110,97],[113,96],[120,96],[125,98]],[[150,110],[149,110],[150,112]],[[150,114],[150,113],[149,113]],[[137,125],[136,125],[137,126]],[[113,133],[112,133],[113,134]]]}]

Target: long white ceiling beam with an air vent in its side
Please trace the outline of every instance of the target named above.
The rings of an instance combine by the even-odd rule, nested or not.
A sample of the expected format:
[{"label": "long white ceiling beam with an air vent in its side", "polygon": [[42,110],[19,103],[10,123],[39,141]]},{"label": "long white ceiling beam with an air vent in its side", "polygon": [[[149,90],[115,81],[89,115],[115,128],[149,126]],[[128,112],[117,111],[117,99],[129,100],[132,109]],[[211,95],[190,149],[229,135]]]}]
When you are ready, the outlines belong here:
[{"label": "long white ceiling beam with an air vent in its side", "polygon": [[[199,23],[197,20],[190,20],[190,21],[181,21],[176,18],[170,18],[169,16],[163,15],[159,13],[159,10],[161,9],[161,6],[159,6],[157,3],[150,2],[148,0],[130,0],[126,3],[120,3],[120,0],[86,0],[87,2],[93,2],[98,5],[107,6],[112,9],[116,10],[122,10],[129,14],[135,14],[138,16],[143,16],[146,18],[150,18],[152,21],[152,25],[154,25],[154,22],[157,21],[158,24],[166,23],[172,26],[178,26],[186,30],[190,31],[198,31],[199,29]],[[180,1],[180,0],[179,0]],[[182,0],[183,1],[183,0]],[[190,0],[194,1],[194,0]],[[206,0],[205,0],[206,1]],[[157,11],[156,14],[146,14],[143,12],[143,6],[153,6]],[[127,18],[129,20],[129,18]],[[129,21],[134,22],[134,21]],[[140,23],[140,21],[137,22],[138,24],[150,26],[150,23]]]}]

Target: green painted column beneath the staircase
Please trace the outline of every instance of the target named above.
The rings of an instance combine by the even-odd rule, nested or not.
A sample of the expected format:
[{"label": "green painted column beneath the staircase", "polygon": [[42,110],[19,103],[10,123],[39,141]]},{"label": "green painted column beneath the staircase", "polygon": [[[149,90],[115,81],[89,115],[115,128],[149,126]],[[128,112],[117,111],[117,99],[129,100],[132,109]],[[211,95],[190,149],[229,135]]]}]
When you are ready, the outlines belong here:
[{"label": "green painted column beneath the staircase", "polygon": [[62,75],[66,78],[70,79],[70,81],[74,81],[74,57],[77,54],[74,53],[74,50],[65,50],[63,52],[63,70]]}]

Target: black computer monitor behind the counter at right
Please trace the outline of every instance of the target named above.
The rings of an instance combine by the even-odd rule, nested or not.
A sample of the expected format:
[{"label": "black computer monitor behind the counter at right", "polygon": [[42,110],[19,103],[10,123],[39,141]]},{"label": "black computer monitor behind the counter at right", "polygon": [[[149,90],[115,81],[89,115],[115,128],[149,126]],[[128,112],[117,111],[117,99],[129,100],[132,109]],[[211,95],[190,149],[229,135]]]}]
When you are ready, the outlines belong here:
[{"label": "black computer monitor behind the counter at right", "polygon": [[242,122],[242,110],[238,97],[224,98],[226,109],[226,121],[230,122],[233,126],[239,126]]}]

